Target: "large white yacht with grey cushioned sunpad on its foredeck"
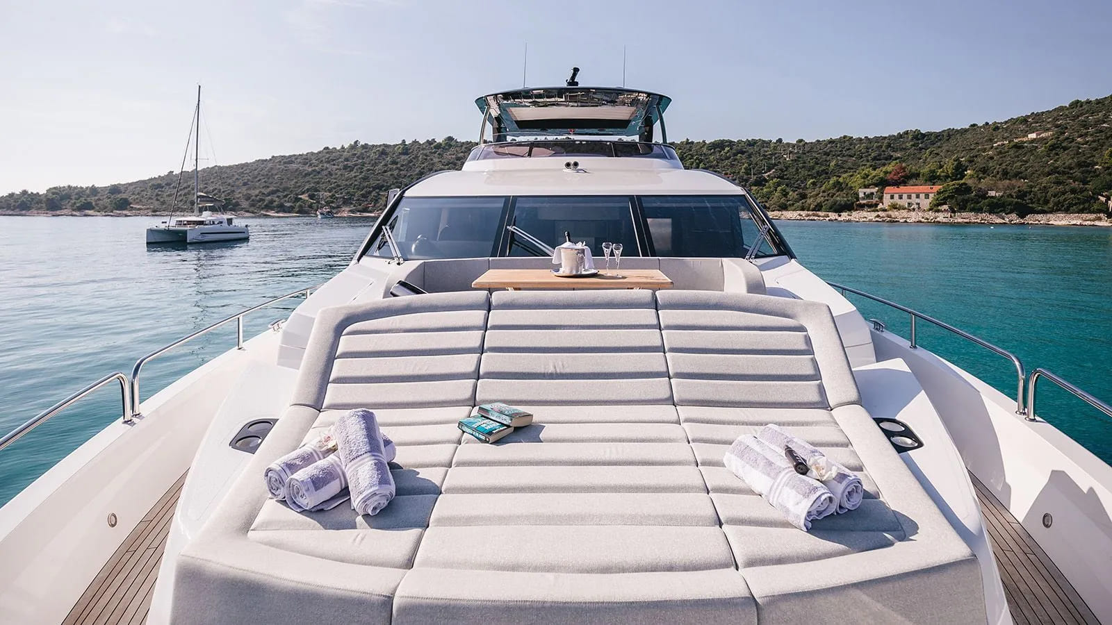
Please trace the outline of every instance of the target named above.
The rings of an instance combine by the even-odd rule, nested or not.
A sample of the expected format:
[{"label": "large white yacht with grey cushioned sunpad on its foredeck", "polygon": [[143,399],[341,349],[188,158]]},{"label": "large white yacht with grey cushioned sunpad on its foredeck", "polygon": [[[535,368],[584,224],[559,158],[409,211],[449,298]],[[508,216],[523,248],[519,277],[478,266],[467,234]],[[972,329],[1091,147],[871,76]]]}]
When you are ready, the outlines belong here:
[{"label": "large white yacht with grey cushioned sunpad on its foredeck", "polygon": [[[112,425],[0,508],[3,619],[1112,623],[1112,467],[1035,399],[1112,408],[824,281],[744,188],[684,168],[669,102],[574,78],[478,98],[461,168],[394,195],[345,269],[271,301],[304,298],[288,317],[214,320],[0,439],[120,390]],[[475,288],[547,272],[565,240],[622,242],[622,271],[672,288]],[[152,359],[231,325],[227,353],[142,398]],[[1014,394],[916,325],[1000,356]],[[489,401],[534,424],[463,435]],[[397,447],[381,513],[268,498],[270,463],[360,407]],[[727,470],[770,423],[856,472],[861,507],[804,532]]]}]

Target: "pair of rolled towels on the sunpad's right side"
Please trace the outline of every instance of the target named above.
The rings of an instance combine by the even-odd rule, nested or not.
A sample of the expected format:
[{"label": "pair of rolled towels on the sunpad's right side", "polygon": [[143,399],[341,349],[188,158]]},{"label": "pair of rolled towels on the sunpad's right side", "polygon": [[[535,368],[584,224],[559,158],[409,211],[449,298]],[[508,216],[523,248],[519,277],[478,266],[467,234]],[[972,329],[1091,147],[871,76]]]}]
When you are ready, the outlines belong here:
[{"label": "pair of rolled towels on the sunpad's right side", "polygon": [[[804,460],[806,475],[798,473],[804,470],[802,466],[796,470],[788,449]],[[815,519],[855,509],[864,496],[860,477],[773,424],[756,436],[739,436],[723,462],[803,530],[811,529]]]}]

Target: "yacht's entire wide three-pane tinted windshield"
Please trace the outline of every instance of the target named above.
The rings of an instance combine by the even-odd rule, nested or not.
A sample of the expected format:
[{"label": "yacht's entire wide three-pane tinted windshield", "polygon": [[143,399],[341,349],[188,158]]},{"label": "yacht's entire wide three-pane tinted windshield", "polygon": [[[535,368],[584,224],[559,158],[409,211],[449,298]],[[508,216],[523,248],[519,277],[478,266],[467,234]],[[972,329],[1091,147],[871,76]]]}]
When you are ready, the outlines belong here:
[{"label": "yacht's entire wide three-pane tinted windshield", "polygon": [[[564,232],[595,256],[606,241],[623,244],[623,256],[787,254],[762,232],[755,211],[744,195],[404,197],[385,225],[401,257],[418,260],[547,256],[545,248],[564,242]],[[368,254],[393,256],[381,232]]]}]

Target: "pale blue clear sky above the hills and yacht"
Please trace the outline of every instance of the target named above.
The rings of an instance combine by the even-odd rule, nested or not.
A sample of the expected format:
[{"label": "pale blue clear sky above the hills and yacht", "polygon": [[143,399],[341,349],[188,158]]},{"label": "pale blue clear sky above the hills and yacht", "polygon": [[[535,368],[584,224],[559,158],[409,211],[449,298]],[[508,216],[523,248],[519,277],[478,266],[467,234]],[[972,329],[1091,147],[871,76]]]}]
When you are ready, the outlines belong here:
[{"label": "pale blue clear sky above the hills and yacht", "polygon": [[354,140],[474,140],[525,82],[673,98],[668,138],[940,130],[1112,93],[1112,1],[0,0],[0,194]]}]

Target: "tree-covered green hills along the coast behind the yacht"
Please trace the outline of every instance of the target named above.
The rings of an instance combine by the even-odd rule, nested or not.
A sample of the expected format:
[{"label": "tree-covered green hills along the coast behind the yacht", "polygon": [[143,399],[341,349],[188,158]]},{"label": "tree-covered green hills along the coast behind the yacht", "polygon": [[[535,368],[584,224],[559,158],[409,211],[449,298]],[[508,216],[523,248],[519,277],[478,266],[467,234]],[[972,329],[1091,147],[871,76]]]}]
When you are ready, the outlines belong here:
[{"label": "tree-covered green hills along the coast behind the yacht", "polygon": [[[1029,139],[1029,135],[1039,133]],[[1017,140],[1020,139],[1020,140]],[[304,155],[278,156],[201,170],[203,190],[227,210],[308,214],[317,201],[349,210],[381,209],[387,191],[440,169],[458,169],[474,142],[443,140],[368,145],[355,141]],[[1101,212],[1112,194],[1112,96],[1006,121],[939,132],[886,137],[716,139],[679,141],[689,168],[724,173],[771,210],[878,210],[855,205],[856,189],[897,183],[947,183],[940,194],[955,210]],[[0,212],[167,212],[178,175],[107,187],[54,187],[0,197]],[[182,181],[179,206],[188,205]],[[995,191],[990,197],[989,191]],[[180,209],[179,209],[180,210]]]}]

